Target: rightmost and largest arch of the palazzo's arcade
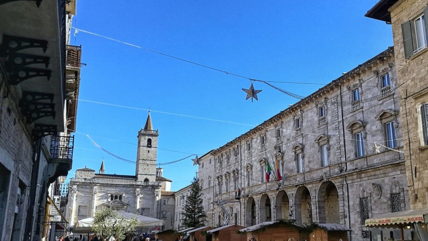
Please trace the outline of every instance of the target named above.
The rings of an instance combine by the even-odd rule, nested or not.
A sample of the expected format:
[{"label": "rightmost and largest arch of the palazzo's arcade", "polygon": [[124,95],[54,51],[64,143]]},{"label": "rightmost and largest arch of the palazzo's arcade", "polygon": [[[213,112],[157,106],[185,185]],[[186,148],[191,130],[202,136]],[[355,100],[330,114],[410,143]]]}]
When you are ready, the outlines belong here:
[{"label": "rightmost and largest arch of the palazzo's arcade", "polygon": [[339,195],[331,181],[323,182],[318,189],[318,222],[340,223]]}]

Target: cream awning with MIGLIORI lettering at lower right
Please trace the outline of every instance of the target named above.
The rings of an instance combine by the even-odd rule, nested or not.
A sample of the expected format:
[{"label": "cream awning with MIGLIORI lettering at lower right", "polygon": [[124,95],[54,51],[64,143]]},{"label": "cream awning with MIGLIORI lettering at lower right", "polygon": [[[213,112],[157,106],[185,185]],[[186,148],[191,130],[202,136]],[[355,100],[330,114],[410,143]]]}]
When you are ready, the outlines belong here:
[{"label": "cream awning with MIGLIORI lettering at lower right", "polygon": [[395,213],[386,213],[379,215],[377,217],[369,218],[365,220],[365,226],[367,227],[375,227],[375,226],[403,226],[405,224],[410,223],[418,223],[418,222],[424,222],[428,221],[425,220],[425,215],[428,214],[428,208],[422,208],[422,209],[414,209],[414,210],[407,210],[402,212],[395,212]]}]

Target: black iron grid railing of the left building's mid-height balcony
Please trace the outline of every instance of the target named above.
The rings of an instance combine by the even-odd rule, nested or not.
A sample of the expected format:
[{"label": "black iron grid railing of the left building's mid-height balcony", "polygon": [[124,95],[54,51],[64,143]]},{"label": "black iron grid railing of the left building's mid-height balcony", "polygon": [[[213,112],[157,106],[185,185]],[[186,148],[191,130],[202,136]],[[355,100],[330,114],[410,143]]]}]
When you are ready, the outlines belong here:
[{"label": "black iron grid railing of the left building's mid-height balcony", "polygon": [[50,140],[50,158],[72,160],[74,136],[52,135]]}]

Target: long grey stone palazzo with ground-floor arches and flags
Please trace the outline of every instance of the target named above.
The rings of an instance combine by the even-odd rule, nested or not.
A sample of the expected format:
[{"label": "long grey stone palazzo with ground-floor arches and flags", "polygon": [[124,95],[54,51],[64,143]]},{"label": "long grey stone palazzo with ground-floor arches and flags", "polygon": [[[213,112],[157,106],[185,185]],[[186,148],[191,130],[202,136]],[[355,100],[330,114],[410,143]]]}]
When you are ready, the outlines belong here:
[{"label": "long grey stone palazzo with ground-floor arches and flags", "polygon": [[372,213],[410,208],[395,68],[389,47],[202,156],[207,225],[222,225],[226,215],[247,227],[295,219],[343,224],[352,240],[399,237],[364,226]]}]

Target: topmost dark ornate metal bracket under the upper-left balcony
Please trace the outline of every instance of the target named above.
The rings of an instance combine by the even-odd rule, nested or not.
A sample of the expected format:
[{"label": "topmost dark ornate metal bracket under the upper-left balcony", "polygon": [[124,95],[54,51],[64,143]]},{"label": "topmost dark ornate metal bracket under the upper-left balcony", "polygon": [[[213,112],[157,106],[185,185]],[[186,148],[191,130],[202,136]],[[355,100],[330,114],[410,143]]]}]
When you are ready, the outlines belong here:
[{"label": "topmost dark ornate metal bracket under the upper-left balcony", "polygon": [[[5,1],[5,0],[0,0]],[[2,2],[0,2],[1,5]],[[47,40],[3,35],[3,45],[0,46],[0,56],[7,57],[21,50],[40,47],[43,53],[47,50]]]}]

